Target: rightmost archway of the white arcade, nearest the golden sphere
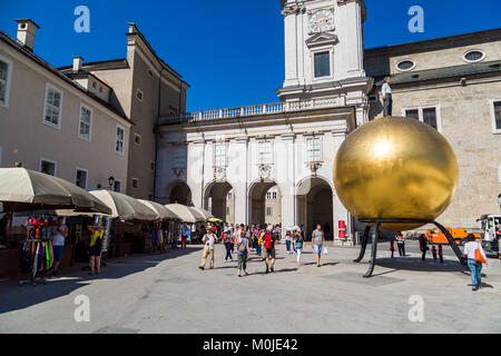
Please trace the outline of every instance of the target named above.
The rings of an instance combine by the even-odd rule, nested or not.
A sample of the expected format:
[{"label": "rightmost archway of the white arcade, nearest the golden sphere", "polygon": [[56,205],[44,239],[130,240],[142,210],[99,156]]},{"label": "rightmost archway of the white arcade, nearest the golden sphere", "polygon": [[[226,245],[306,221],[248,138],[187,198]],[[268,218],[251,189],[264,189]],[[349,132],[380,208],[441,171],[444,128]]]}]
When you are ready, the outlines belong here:
[{"label": "rightmost archway of the white arcade, nearest the golden sphere", "polygon": [[331,185],[324,178],[306,178],[297,186],[296,200],[297,224],[304,225],[306,239],[311,240],[313,229],[320,224],[325,239],[332,240],[334,215]]}]

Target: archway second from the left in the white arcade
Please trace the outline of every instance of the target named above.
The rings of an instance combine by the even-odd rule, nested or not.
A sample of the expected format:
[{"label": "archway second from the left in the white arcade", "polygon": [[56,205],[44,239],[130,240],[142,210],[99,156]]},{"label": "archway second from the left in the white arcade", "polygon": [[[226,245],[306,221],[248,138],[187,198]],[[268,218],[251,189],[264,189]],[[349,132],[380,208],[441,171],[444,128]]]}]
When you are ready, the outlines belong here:
[{"label": "archway second from the left in the white arcade", "polygon": [[227,181],[213,181],[205,188],[204,209],[225,222],[235,224],[234,201],[233,187]]}]

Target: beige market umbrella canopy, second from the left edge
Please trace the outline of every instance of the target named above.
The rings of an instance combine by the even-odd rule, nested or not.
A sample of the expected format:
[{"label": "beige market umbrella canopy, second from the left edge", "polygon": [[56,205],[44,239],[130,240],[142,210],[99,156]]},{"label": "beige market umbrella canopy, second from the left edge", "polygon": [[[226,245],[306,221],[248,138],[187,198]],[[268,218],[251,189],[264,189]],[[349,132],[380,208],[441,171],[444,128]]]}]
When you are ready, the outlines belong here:
[{"label": "beige market umbrella canopy, second from the left edge", "polygon": [[146,205],[141,204],[139,200],[126,196],[121,192],[116,192],[111,190],[91,190],[91,195],[99,198],[105,202],[110,209],[110,216],[112,218],[119,218],[124,221],[129,220],[143,220],[143,221],[157,221],[158,214],[148,208]]}]

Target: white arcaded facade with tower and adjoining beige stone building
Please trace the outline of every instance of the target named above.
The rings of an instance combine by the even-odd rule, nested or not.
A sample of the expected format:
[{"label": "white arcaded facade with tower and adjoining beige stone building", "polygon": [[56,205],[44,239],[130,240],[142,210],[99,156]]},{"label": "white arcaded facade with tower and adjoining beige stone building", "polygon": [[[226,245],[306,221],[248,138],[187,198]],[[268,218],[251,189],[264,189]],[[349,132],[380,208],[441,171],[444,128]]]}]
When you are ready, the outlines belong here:
[{"label": "white arcaded facade with tower and adjoining beige stone building", "polygon": [[263,224],[275,188],[284,227],[304,225],[308,236],[321,224],[352,241],[357,224],[337,198],[333,159],[353,129],[382,115],[382,79],[392,76],[393,115],[434,126],[458,156],[460,186],[440,219],[473,227],[499,209],[500,30],[364,50],[364,1],[281,3],[281,101],[160,117],[157,200]]}]

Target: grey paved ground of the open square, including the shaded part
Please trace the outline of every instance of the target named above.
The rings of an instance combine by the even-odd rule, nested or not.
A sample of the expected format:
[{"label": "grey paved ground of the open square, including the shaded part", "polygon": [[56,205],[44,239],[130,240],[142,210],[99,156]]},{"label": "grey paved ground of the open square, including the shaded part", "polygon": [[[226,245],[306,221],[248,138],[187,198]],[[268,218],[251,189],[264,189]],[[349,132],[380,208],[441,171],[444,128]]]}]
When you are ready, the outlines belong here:
[{"label": "grey paved ground of the open square, including the shaded part", "polygon": [[[490,259],[473,293],[453,256],[422,263],[412,244],[410,256],[393,259],[381,244],[369,279],[369,254],[352,261],[358,247],[328,246],[318,268],[306,244],[301,267],[278,245],[268,275],[253,254],[238,278],[218,245],[212,270],[197,268],[200,246],[189,246],[115,259],[99,276],[75,267],[37,287],[1,283],[0,333],[500,333],[501,260]],[[73,318],[79,295],[90,300],[88,323]],[[422,322],[409,317],[415,300]]]}]

